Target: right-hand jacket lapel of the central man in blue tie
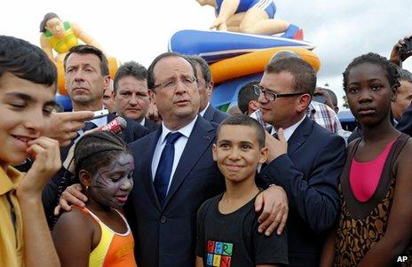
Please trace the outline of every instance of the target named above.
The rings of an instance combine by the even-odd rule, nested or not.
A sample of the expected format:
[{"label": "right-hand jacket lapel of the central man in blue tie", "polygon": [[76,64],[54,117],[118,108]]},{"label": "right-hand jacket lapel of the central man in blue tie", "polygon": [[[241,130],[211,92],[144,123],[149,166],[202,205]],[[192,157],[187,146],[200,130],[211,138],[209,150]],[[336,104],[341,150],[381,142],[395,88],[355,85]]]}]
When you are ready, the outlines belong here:
[{"label": "right-hand jacket lapel of the central man in blue tie", "polygon": [[178,167],[173,175],[164,207],[166,207],[170,198],[185,180],[187,174],[194,168],[196,162],[200,160],[205,150],[207,150],[211,145],[214,138],[215,129],[213,126],[211,126],[209,122],[205,121],[202,116],[198,116],[197,122],[194,124],[194,129],[187,140],[185,150],[180,157],[180,161],[178,161]]}]

